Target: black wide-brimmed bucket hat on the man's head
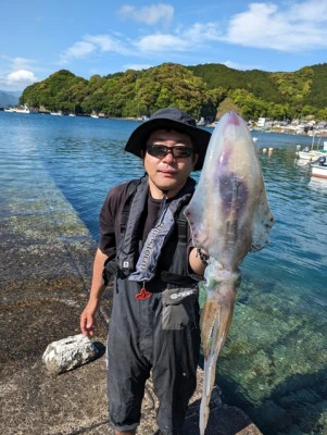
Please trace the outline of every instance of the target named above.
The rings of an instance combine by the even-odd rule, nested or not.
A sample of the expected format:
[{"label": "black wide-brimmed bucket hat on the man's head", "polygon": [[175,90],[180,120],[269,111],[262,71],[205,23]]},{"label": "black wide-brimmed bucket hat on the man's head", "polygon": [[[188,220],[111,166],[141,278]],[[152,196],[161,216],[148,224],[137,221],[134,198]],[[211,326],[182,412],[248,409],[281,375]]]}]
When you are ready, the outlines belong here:
[{"label": "black wide-brimmed bucket hat on the man's head", "polygon": [[177,108],[160,109],[153,113],[149,121],[143,122],[131,133],[125,151],[141,158],[148,137],[152,132],[160,128],[176,129],[191,137],[196,152],[199,154],[194,171],[200,171],[203,166],[211,133],[198,127],[192,116]]}]

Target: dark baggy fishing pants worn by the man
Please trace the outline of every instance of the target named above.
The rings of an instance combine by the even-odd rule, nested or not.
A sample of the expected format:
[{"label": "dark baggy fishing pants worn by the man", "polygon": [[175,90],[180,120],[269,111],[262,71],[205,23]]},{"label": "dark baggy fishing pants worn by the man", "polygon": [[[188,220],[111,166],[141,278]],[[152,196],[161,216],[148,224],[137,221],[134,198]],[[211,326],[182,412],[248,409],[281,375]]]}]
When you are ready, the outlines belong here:
[{"label": "dark baggy fishing pants worn by the man", "polygon": [[152,370],[160,406],[158,426],[179,434],[197,386],[200,350],[198,289],[153,293],[137,300],[137,283],[117,279],[108,340],[108,393],[112,426],[134,430]]}]

